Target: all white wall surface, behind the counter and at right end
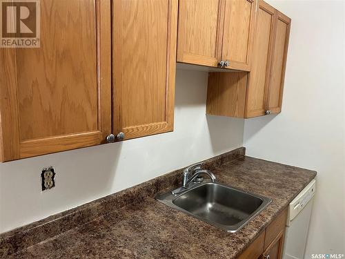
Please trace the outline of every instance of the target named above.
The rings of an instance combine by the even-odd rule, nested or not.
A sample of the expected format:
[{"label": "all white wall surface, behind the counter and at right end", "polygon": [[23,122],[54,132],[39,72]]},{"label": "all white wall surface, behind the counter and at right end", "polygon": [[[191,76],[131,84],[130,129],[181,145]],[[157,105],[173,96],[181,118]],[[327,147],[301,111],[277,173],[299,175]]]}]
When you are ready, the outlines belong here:
[{"label": "all white wall surface, behind the counter and at right end", "polygon": [[[344,1],[267,0],[292,21],[283,111],[205,116],[207,73],[178,70],[175,131],[0,164],[0,233],[233,148],[318,171],[306,258],[345,253]],[[243,135],[244,130],[244,135]],[[41,193],[40,172],[56,187]]]}]

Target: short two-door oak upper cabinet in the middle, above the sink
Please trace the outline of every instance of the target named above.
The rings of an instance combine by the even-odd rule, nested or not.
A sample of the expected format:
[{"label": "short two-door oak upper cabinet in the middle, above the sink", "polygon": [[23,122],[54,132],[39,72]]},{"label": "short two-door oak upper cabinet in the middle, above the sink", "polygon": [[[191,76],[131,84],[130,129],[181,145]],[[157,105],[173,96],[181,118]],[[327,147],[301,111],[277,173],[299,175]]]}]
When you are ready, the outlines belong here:
[{"label": "short two-door oak upper cabinet in the middle, above the sink", "polygon": [[177,61],[250,70],[256,0],[181,0]]}]

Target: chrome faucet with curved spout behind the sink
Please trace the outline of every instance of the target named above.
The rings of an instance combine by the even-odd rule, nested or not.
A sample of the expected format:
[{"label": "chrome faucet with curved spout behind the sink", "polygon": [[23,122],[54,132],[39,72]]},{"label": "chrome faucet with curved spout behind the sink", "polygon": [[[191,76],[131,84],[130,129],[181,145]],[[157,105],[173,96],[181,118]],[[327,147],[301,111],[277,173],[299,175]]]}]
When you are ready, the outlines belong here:
[{"label": "chrome faucet with curved spout behind the sink", "polygon": [[[215,182],[215,175],[209,170],[201,169],[202,165],[203,163],[192,164],[184,169],[184,172],[182,173],[182,186],[171,191],[171,193],[178,194],[186,191],[192,183],[204,182],[204,178],[201,175],[208,175],[211,178],[211,181]],[[192,174],[191,177],[190,174]]]}]

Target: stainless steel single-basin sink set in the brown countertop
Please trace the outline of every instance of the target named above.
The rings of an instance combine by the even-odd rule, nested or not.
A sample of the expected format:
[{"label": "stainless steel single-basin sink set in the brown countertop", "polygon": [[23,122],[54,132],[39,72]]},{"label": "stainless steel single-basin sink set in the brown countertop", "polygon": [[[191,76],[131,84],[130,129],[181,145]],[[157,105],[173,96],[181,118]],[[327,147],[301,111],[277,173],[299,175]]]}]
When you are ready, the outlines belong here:
[{"label": "stainless steel single-basin sink set in the brown countertop", "polygon": [[216,182],[195,184],[178,195],[159,194],[156,199],[230,233],[242,229],[271,202],[261,195]]}]

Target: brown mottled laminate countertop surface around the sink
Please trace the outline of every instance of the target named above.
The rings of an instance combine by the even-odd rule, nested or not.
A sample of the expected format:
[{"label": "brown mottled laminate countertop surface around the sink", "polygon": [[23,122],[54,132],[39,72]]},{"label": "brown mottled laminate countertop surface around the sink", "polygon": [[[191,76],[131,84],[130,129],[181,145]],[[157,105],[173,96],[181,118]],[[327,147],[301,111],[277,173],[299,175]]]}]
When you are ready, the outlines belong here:
[{"label": "brown mottled laminate countertop surface around the sink", "polygon": [[148,195],[12,257],[236,258],[316,175],[315,171],[253,157],[226,162],[213,173],[218,182],[264,195],[273,202],[243,229],[227,233]]}]

